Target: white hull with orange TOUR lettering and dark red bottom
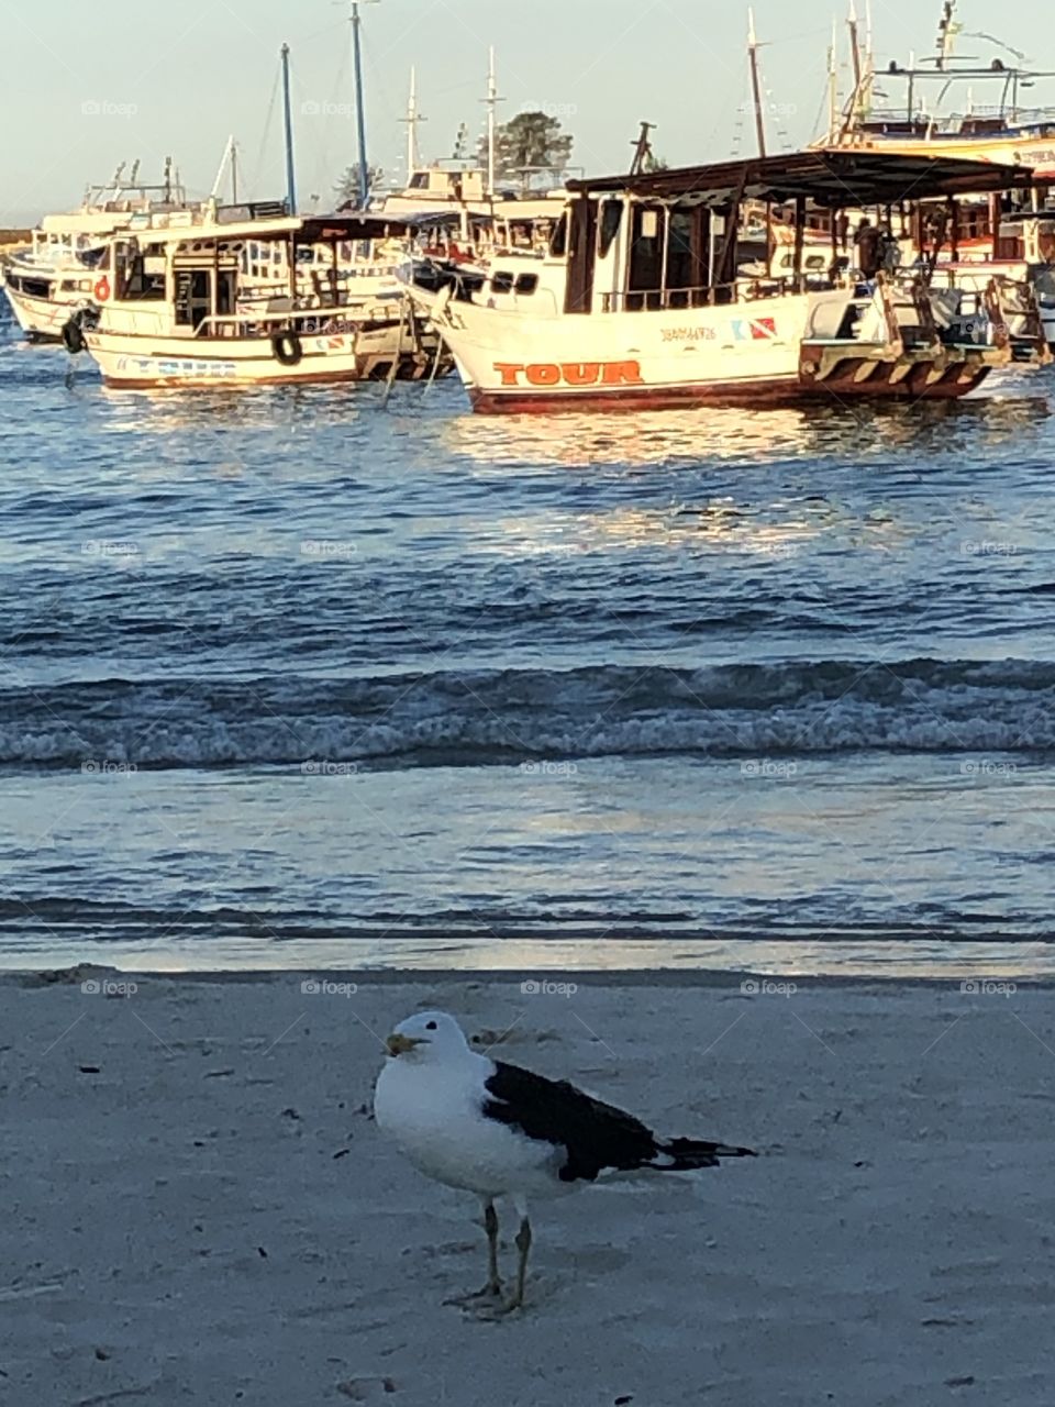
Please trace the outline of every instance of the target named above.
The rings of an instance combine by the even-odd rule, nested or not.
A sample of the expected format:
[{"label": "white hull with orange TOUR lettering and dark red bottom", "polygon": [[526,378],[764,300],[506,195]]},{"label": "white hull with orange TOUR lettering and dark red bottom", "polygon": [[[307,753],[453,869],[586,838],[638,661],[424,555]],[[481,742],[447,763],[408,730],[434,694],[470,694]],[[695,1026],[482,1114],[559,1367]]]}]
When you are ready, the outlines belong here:
[{"label": "white hull with orange TOUR lettering and dark red bottom", "polygon": [[[414,291],[485,415],[954,400],[1010,357],[990,346],[890,342],[890,305],[864,310],[868,340],[840,338],[848,294],[535,317]],[[827,318],[827,321],[826,321]]]}]

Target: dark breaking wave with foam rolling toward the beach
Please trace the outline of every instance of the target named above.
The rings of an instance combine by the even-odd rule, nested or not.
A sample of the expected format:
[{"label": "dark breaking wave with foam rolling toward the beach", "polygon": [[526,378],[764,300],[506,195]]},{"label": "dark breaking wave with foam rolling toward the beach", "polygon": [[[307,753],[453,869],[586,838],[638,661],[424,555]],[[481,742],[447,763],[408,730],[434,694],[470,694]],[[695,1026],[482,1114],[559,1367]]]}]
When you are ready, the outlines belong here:
[{"label": "dark breaking wave with foam rolling toward the beach", "polygon": [[1055,664],[798,661],[0,691],[0,765],[473,765],[1055,747]]}]

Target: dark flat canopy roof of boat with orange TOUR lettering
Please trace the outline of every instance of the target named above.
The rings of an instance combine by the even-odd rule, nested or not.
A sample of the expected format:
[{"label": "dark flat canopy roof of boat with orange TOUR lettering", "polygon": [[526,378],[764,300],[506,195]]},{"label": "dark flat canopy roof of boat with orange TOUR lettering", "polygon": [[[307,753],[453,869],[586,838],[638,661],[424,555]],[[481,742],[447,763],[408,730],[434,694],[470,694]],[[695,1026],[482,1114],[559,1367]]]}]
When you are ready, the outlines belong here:
[{"label": "dark flat canopy roof of boat with orange TOUR lettering", "polygon": [[1027,166],[897,152],[812,151],[639,176],[570,180],[568,190],[585,196],[625,191],[644,200],[713,207],[743,200],[784,204],[805,197],[838,210],[941,196],[983,196],[1031,184],[1032,170]]}]

